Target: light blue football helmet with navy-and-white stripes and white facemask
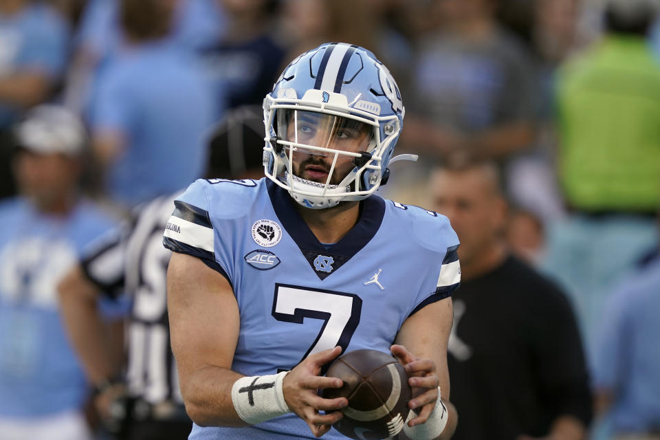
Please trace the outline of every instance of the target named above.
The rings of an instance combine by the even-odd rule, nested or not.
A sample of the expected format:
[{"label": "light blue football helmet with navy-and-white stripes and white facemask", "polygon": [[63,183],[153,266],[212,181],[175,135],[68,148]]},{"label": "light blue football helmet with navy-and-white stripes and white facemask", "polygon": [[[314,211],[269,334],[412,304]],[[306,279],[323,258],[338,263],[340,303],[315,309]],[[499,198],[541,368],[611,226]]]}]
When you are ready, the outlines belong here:
[{"label": "light blue football helmet with navy-and-white stripes and white facemask", "polygon": [[394,78],[368,50],[326,43],[298,56],[263,111],[265,175],[301,205],[365,199],[386,183],[404,105]]}]

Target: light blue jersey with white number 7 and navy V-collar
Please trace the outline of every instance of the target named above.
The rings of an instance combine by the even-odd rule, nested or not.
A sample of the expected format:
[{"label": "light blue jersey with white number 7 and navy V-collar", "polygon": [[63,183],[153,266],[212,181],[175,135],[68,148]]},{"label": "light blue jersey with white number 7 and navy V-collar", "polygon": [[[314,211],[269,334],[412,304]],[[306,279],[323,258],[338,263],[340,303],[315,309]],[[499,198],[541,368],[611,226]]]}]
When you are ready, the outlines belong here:
[{"label": "light blue jersey with white number 7 and navy V-collar", "polygon": [[[266,179],[198,180],[166,226],[166,247],[202,259],[234,289],[241,318],[234,371],[274,374],[336,345],[388,353],[408,316],[459,286],[459,241],[446,217],[372,196],[351,231],[327,246],[294,203]],[[293,414],[250,428],[195,426],[190,435],[292,437],[315,438]],[[344,437],[331,430],[325,438]]]}]

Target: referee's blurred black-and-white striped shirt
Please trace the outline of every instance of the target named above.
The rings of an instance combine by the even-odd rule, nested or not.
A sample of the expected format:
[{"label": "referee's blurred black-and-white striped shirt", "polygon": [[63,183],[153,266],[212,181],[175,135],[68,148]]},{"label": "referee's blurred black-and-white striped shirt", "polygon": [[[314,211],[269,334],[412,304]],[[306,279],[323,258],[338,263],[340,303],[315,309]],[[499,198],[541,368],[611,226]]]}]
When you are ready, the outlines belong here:
[{"label": "referee's blurred black-and-white striped shirt", "polygon": [[162,245],[176,195],[159,197],[136,208],[132,224],[105,236],[82,261],[89,280],[105,295],[131,299],[126,381],[131,396],[151,404],[183,402],[170,349],[166,307],[166,271],[171,252]]}]

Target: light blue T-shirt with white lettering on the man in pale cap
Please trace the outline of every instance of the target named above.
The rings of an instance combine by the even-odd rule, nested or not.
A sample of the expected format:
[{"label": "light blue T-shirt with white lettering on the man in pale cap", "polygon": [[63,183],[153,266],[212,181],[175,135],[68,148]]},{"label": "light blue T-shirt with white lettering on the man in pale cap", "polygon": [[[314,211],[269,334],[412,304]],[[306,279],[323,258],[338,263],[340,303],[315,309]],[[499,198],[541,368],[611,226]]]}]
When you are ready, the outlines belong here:
[{"label": "light blue T-shirt with white lettering on the man in pale cap", "polygon": [[0,206],[0,224],[0,417],[81,408],[87,385],[65,336],[56,285],[113,221],[88,203],[58,217],[17,199]]}]

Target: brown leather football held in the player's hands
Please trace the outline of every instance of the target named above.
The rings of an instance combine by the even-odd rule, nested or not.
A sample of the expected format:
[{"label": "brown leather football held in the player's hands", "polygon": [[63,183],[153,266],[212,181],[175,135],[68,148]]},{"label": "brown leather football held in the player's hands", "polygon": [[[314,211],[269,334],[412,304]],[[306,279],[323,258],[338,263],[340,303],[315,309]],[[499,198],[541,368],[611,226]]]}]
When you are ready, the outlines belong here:
[{"label": "brown leather football held in the player's hands", "polygon": [[408,416],[410,386],[404,366],[388,353],[355,350],[340,356],[326,375],[344,381],[341,388],[326,388],[323,397],[346,397],[349,406],[333,427],[351,439],[393,437]]}]

